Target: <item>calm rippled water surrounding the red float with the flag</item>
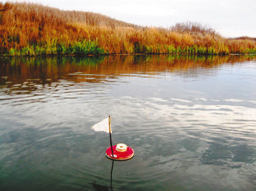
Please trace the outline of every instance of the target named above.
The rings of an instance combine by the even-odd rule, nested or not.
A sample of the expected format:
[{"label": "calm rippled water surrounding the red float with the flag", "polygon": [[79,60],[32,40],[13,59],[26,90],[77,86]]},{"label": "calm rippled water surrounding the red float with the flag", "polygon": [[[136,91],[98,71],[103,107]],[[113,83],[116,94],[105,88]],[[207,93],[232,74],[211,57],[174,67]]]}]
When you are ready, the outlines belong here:
[{"label": "calm rippled water surrounding the red float with the flag", "polygon": [[[255,190],[256,57],[0,60],[0,190]],[[133,159],[105,157],[113,144]]]}]

